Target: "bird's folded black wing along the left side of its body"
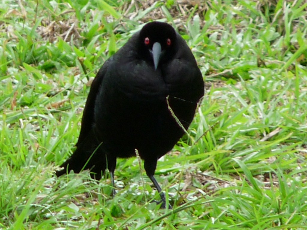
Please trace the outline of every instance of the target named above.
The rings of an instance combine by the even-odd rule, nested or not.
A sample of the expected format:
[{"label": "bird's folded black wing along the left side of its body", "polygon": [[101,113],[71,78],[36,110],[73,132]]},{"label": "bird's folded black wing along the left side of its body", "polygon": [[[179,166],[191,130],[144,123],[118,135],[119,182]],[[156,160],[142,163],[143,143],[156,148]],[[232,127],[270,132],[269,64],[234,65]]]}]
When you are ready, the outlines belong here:
[{"label": "bird's folded black wing along the left side of its body", "polygon": [[[111,59],[111,58],[110,58]],[[91,84],[91,89],[88,94],[86,104],[83,110],[83,117],[81,121],[81,130],[80,130],[80,135],[78,142],[76,146],[80,145],[80,143],[83,142],[87,134],[91,131],[92,125],[94,123],[94,108],[95,108],[95,101],[96,97],[98,95],[99,88],[101,87],[103,77],[106,74],[107,68],[108,68],[108,63],[110,62],[108,59],[103,66],[100,68],[98,71],[95,79],[93,80]]]}]

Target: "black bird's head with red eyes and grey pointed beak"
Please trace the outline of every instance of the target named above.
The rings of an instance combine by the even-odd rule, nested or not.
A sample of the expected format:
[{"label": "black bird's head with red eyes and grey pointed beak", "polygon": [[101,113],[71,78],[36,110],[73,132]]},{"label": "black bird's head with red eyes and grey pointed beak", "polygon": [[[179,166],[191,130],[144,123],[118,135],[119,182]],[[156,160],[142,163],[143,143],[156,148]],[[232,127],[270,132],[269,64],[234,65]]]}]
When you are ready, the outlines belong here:
[{"label": "black bird's head with red eyes and grey pointed beak", "polygon": [[166,61],[174,55],[176,32],[165,22],[150,22],[142,28],[138,44],[144,58],[153,60],[157,70],[160,61]]}]

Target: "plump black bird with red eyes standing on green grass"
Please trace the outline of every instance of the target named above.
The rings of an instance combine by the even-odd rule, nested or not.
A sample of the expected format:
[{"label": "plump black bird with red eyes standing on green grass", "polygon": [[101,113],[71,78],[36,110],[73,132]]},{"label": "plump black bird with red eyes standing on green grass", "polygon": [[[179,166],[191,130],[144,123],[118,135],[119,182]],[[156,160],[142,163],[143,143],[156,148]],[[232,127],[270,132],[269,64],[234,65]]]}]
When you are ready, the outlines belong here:
[{"label": "plump black bird with red eyes standing on green grass", "polygon": [[116,158],[135,156],[137,149],[165,206],[154,178],[157,160],[189,127],[203,95],[204,81],[185,40],[167,23],[146,24],[100,68],[76,151],[56,175],[89,169],[99,180],[108,168],[114,186]]}]

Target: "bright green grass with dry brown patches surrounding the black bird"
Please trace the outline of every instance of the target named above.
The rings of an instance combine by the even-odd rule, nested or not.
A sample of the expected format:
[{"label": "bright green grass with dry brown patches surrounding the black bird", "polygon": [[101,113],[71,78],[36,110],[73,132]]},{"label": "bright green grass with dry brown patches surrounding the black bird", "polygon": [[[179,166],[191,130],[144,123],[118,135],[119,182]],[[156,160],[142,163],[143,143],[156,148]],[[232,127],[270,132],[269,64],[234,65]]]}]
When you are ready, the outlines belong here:
[{"label": "bright green grass with dry brown patches surrounding the black bird", "polygon": [[[202,2],[202,1],[200,1]],[[306,229],[307,3],[0,4],[0,229]],[[183,9],[183,10],[182,10]],[[74,149],[90,81],[143,23],[169,21],[206,80],[196,117],[157,165],[54,177]]]}]

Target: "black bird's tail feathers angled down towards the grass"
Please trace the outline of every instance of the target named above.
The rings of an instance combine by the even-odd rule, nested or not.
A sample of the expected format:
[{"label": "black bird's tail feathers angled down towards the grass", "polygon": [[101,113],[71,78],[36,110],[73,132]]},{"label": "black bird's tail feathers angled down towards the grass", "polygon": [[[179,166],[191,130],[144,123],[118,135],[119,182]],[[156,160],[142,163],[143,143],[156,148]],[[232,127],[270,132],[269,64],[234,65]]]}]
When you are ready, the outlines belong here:
[{"label": "black bird's tail feathers angled down towards the grass", "polygon": [[60,167],[63,167],[63,169],[56,171],[57,177],[69,173],[71,170],[79,173],[82,170],[89,169],[92,178],[97,180],[101,178],[107,167],[106,154],[93,132],[80,143],[78,141],[74,153]]}]

